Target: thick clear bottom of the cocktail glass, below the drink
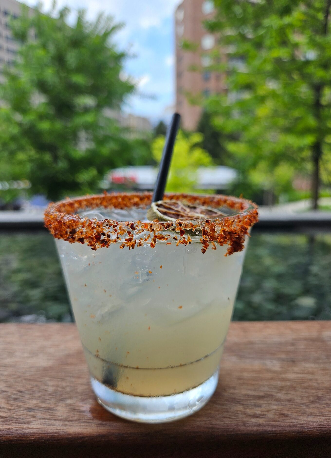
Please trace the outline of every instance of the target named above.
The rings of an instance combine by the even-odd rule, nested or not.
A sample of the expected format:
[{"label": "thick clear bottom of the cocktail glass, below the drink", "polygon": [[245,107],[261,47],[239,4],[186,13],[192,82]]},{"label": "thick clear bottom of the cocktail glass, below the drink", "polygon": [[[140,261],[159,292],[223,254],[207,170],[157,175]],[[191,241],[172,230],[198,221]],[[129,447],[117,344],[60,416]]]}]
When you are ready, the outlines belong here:
[{"label": "thick clear bottom of the cocktail glass, below the drink", "polygon": [[141,397],[119,393],[91,377],[98,402],[112,414],[141,423],[164,423],[187,417],[201,409],[212,397],[218,370],[198,387],[170,396]]}]

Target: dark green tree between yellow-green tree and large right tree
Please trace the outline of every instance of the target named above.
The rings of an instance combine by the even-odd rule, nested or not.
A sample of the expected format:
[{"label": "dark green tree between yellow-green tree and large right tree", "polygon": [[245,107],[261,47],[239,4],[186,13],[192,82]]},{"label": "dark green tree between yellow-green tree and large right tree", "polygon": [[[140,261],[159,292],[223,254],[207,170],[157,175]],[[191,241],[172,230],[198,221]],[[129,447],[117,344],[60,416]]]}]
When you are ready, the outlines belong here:
[{"label": "dark green tree between yellow-green tree and large right tree", "polygon": [[222,133],[216,129],[212,122],[211,114],[203,110],[196,129],[203,135],[202,147],[215,159],[219,165],[225,164],[226,150],[222,143]]}]

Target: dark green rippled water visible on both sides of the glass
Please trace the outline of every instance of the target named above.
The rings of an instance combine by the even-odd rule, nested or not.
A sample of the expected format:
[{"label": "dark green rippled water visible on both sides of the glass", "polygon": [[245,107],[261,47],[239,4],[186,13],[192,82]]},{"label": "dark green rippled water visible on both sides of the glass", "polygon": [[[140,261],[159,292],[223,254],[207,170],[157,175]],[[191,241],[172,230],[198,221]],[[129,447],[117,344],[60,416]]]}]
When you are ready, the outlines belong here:
[{"label": "dark green rippled water visible on both sides of the glass", "polygon": [[[330,233],[253,231],[233,319],[331,319],[330,271]],[[45,231],[1,231],[0,322],[12,321],[71,321],[54,240]]]}]

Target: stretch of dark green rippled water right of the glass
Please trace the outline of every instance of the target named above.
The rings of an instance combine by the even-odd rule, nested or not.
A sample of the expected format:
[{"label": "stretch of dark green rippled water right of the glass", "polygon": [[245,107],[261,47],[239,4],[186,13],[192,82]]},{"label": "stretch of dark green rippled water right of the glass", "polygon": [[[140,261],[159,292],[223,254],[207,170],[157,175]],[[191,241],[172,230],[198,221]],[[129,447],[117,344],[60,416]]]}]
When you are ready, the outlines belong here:
[{"label": "stretch of dark green rippled water right of the glass", "polygon": [[235,320],[331,318],[331,234],[254,233]]}]

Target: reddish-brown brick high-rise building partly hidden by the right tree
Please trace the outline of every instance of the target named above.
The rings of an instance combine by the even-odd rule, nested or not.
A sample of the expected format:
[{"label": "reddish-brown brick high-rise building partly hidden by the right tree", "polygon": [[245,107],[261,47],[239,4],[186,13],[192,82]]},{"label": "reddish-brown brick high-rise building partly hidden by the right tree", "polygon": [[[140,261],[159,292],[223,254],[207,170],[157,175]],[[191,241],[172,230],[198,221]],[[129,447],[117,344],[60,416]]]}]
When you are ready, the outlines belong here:
[{"label": "reddish-brown brick high-rise building partly hidden by the right tree", "polygon": [[[208,97],[224,90],[223,75],[208,69],[217,37],[207,32],[202,22],[213,14],[211,0],[183,0],[175,11],[176,110],[187,130],[195,130],[201,116],[201,106],[191,104],[190,95]],[[182,49],[183,40],[196,44],[197,48]]]}]

